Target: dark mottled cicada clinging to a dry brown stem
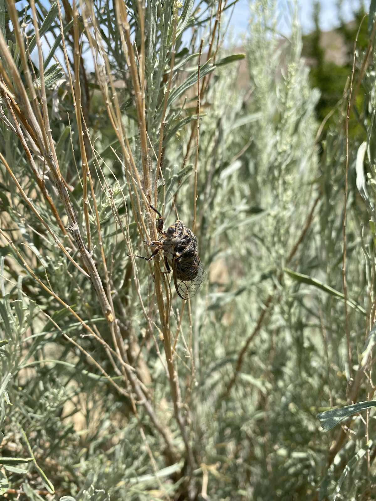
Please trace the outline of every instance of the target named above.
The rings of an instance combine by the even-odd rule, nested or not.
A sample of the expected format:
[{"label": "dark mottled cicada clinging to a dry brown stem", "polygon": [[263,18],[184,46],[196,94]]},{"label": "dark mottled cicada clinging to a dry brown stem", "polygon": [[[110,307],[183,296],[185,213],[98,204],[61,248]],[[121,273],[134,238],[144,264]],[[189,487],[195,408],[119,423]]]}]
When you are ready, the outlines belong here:
[{"label": "dark mottled cicada clinging to a dry brown stem", "polygon": [[180,219],[164,231],[162,215],[152,205],[150,208],[159,216],[156,227],[161,237],[159,240],[145,242],[154,249],[149,258],[136,254],[134,257],[150,261],[159,250],[162,250],[166,273],[171,272],[169,263],[171,264],[173,283],[178,296],[181,299],[190,299],[197,293],[206,278],[206,272],[197,254],[197,238]]}]

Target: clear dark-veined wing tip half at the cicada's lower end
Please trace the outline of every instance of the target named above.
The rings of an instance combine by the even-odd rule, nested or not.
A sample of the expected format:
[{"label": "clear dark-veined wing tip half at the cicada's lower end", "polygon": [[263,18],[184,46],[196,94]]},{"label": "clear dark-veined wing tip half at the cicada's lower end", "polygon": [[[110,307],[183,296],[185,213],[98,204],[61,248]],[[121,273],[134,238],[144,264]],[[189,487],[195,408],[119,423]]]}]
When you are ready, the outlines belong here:
[{"label": "clear dark-veined wing tip half at the cicada's lower end", "polygon": [[206,279],[206,272],[198,256],[190,267],[173,260],[172,274],[176,292],[181,299],[185,300],[195,296]]}]

